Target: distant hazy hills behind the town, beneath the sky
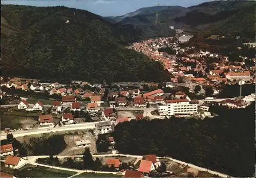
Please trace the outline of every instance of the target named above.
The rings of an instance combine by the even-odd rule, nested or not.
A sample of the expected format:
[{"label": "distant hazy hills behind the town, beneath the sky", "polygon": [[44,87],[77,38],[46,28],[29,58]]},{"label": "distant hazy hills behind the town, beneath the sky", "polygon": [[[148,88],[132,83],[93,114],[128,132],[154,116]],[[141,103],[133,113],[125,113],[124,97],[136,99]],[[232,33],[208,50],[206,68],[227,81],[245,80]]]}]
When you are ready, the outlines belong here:
[{"label": "distant hazy hills behind the town, beneath the sky", "polygon": [[[175,28],[195,28],[202,24],[225,20],[240,9],[255,5],[255,1],[212,1],[188,8],[180,6],[157,6],[141,8],[123,16],[108,17],[118,24],[132,24],[144,31],[146,37],[170,36]],[[158,23],[155,26],[157,12]]]}]

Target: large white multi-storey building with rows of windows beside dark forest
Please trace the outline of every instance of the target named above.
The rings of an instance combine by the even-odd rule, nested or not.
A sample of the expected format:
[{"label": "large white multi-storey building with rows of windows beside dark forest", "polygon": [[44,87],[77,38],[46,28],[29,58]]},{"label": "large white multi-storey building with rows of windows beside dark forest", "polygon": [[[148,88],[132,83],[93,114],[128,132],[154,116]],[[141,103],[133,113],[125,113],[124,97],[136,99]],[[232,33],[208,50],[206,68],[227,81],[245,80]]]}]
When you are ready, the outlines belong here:
[{"label": "large white multi-storey building with rows of windows beside dark forest", "polygon": [[197,104],[190,104],[188,99],[165,100],[165,103],[158,104],[157,110],[160,116],[185,117],[197,114]]}]

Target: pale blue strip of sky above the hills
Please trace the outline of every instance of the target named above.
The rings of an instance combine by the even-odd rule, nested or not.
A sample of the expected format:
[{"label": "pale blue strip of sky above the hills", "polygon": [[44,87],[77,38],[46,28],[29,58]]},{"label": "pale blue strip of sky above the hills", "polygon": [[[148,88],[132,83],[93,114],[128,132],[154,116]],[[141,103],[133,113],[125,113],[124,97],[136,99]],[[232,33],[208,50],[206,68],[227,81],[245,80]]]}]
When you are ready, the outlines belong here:
[{"label": "pale blue strip of sky above the hills", "polygon": [[134,12],[143,7],[152,6],[183,6],[189,7],[211,0],[52,0],[52,1],[8,1],[3,0],[1,4],[16,4],[28,6],[66,6],[76,9],[83,9],[101,16],[119,16]]}]

